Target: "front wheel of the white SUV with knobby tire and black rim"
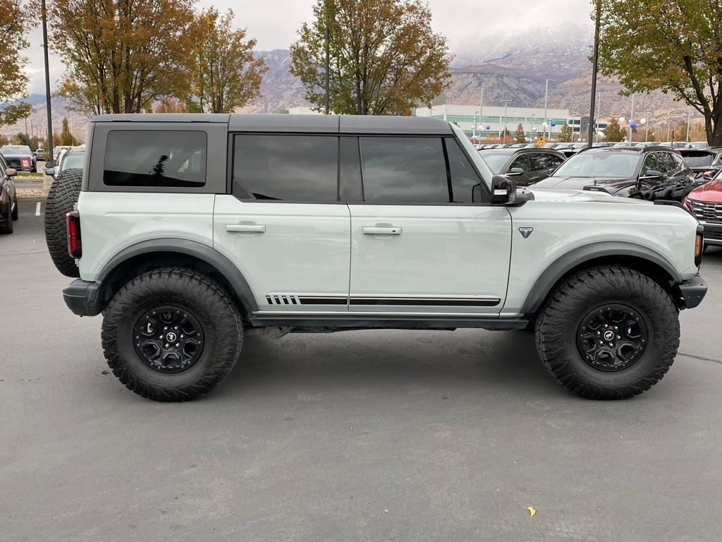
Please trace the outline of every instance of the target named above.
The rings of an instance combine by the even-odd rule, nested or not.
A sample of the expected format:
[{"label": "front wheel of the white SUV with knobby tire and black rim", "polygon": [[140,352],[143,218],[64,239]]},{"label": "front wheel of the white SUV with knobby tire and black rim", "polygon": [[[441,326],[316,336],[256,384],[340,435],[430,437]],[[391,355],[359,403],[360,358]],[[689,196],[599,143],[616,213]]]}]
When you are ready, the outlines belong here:
[{"label": "front wheel of the white SUV with knobby tire and black rim", "polygon": [[679,347],[671,297],[651,278],[618,266],[571,275],[539,312],[544,365],[576,395],[623,399],[656,384]]}]

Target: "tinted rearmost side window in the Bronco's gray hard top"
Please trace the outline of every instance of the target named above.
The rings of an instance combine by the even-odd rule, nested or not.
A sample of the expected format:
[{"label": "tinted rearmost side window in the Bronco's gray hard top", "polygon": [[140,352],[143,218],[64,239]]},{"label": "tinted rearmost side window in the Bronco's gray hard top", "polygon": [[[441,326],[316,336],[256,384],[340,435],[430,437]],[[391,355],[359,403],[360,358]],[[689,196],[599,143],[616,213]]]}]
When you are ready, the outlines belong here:
[{"label": "tinted rearmost side window in the Bronco's gray hard top", "polygon": [[206,133],[113,130],[105,145],[103,183],[108,186],[203,186]]}]

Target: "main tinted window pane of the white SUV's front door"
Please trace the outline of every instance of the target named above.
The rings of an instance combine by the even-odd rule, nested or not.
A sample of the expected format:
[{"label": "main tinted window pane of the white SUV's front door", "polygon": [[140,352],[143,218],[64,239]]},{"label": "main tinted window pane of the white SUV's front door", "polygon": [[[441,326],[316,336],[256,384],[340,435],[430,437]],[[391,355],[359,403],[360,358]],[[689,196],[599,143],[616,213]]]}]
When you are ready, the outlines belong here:
[{"label": "main tinted window pane of the white SUV's front door", "polygon": [[448,203],[450,189],[440,137],[360,137],[368,203]]}]

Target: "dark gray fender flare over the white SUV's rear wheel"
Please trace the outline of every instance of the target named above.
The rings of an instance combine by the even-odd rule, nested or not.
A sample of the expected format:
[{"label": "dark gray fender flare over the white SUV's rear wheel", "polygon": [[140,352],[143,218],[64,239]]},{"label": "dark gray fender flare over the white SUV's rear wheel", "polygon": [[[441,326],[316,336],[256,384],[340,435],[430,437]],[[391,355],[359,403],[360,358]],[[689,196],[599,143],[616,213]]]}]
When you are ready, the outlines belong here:
[{"label": "dark gray fender flare over the white SUV's rear wheel", "polygon": [[142,254],[152,254],[154,252],[171,252],[175,254],[185,254],[200,259],[206,264],[214,267],[228,281],[233,293],[238,297],[243,305],[245,314],[250,317],[253,311],[258,311],[256,298],[253,291],[245,280],[243,273],[238,270],[230,259],[225,257],[212,246],[199,243],[198,241],[190,241],[188,239],[179,238],[160,238],[141,241],[134,245],[128,246],[113,256],[110,261],[103,267],[103,270],[97,275],[95,282],[102,285],[105,280],[118,268],[118,265],[128,261],[131,258]]}]

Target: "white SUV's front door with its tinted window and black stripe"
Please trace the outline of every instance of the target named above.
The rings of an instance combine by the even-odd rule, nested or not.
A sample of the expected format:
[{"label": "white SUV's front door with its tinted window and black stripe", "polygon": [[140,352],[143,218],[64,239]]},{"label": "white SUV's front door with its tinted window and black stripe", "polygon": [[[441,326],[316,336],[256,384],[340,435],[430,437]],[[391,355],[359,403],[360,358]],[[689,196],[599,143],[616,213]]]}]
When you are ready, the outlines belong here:
[{"label": "white SUV's front door with its tinted window and black stripe", "polygon": [[498,314],[511,218],[453,137],[360,137],[349,311]]}]

